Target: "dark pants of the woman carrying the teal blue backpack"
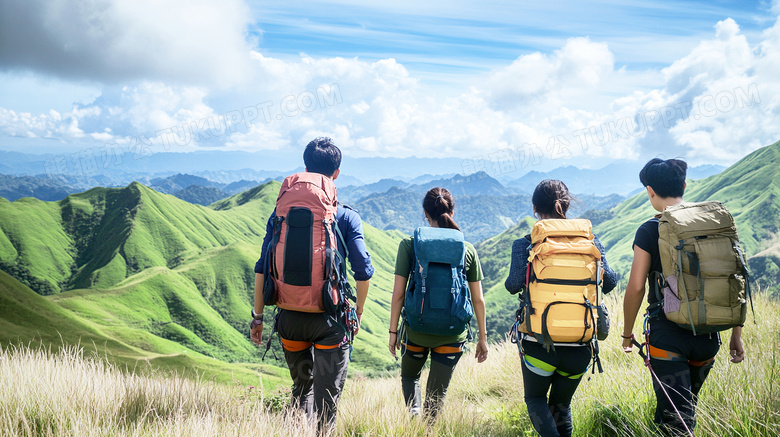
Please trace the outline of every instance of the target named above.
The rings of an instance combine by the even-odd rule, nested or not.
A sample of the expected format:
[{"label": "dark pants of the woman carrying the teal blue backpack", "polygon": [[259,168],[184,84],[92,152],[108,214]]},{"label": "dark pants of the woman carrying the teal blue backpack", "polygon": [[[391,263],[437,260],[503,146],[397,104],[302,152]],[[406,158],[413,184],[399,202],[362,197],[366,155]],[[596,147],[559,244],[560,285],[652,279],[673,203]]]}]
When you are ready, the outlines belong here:
[{"label": "dark pants of the woman carrying the teal blue backpack", "polygon": [[441,411],[455,365],[463,355],[463,343],[434,348],[420,346],[408,340],[402,344],[401,388],[404,392],[404,401],[412,414],[420,414],[420,375],[429,353],[431,368],[428,372],[423,412],[433,420]]}]

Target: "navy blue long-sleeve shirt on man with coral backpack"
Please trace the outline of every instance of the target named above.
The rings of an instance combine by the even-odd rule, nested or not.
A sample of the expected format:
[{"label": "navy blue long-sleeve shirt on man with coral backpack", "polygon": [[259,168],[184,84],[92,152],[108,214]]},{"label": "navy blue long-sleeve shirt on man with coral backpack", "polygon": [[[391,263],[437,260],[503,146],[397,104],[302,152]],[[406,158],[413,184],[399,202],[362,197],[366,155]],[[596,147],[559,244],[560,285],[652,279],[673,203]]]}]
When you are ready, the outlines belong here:
[{"label": "navy blue long-sleeve shirt on man with coral backpack", "polygon": [[[260,259],[255,264],[255,273],[265,274],[263,269],[265,266],[265,251],[273,236],[272,220],[274,217],[276,217],[276,210],[271,213],[268,223],[265,225],[265,237],[263,238]],[[339,204],[336,208],[336,225],[347,243],[349,266],[352,269],[355,280],[367,281],[371,279],[374,275],[374,267],[371,265],[371,255],[368,254],[366,242],[363,238],[363,221],[360,220],[360,215],[354,209]],[[343,244],[341,244],[341,240],[339,238],[336,240],[338,240],[338,249],[341,256],[345,256],[346,251]]]}]

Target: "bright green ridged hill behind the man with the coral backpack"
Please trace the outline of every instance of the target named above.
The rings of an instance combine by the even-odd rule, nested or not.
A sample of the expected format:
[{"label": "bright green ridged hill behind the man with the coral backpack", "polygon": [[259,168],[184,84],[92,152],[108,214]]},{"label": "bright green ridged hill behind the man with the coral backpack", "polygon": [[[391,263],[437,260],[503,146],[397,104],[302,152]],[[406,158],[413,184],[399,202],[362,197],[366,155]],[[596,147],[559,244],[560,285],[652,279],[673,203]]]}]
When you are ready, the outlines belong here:
[{"label": "bright green ridged hill behind the man with the coral backpack", "polygon": [[[174,344],[179,352],[225,363],[257,362],[247,315],[254,263],[279,186],[269,182],[210,207],[138,183],[60,202],[0,199],[0,268],[50,295],[44,299],[49,305],[149,356],[168,355]],[[353,359],[358,370],[370,372],[393,365],[378,346],[386,342],[392,266],[402,236],[368,225],[365,233],[377,274],[357,340],[364,344]],[[271,320],[272,309],[267,312]],[[0,318],[7,319],[5,311]],[[29,337],[12,326],[4,342]],[[274,349],[281,356],[277,341]]]}]

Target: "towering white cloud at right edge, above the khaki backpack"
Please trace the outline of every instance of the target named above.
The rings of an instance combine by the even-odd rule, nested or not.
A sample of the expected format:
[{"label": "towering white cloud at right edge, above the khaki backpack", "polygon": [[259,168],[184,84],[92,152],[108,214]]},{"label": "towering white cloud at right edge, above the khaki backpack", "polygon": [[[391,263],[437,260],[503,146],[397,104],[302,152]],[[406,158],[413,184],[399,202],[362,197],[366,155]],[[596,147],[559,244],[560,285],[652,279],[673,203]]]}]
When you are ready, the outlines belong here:
[{"label": "towering white cloud at right edge, above the khaki backpack", "polygon": [[642,139],[645,154],[730,164],[780,139],[779,36],[780,21],[751,48],[734,20],[718,22],[715,38],[665,69],[666,86],[633,106],[635,112],[680,108],[668,131]]}]

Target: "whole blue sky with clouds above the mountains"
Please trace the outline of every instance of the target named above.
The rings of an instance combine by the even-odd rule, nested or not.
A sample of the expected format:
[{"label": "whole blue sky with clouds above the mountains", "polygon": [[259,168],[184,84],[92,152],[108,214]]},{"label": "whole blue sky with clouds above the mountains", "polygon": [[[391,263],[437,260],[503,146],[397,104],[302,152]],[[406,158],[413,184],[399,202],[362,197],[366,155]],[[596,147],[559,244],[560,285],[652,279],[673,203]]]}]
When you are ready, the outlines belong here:
[{"label": "whole blue sky with clouds above the mountains", "polygon": [[278,156],[330,136],[352,157],[473,170],[730,165],[780,140],[779,15],[780,0],[5,0],[0,150]]}]

